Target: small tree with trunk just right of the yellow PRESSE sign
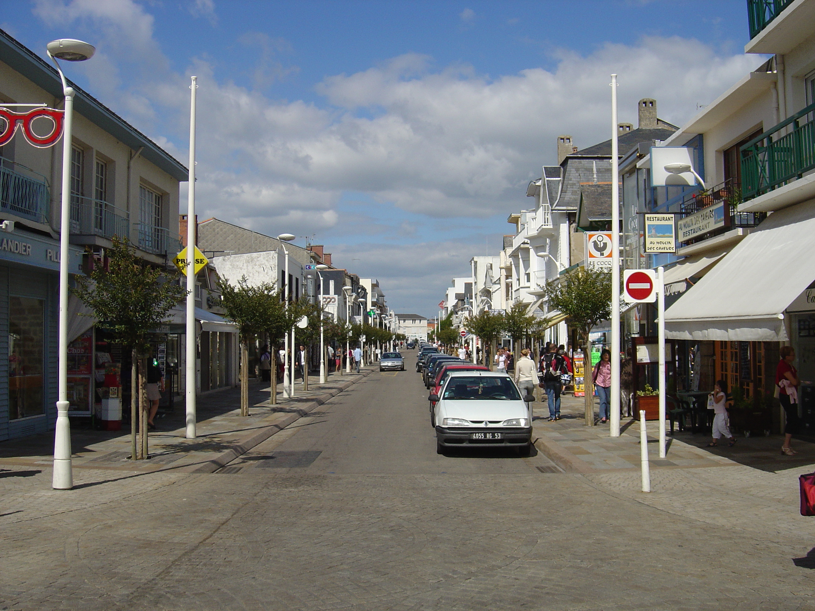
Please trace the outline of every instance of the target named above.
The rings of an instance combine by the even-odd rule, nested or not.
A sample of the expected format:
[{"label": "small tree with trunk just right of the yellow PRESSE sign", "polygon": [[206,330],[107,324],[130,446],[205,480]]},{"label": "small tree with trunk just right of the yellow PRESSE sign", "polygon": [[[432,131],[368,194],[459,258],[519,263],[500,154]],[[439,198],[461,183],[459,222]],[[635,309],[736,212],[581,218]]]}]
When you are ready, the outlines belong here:
[{"label": "small tree with trunk just right of the yellow PRESSE sign", "polygon": [[[275,323],[282,323],[283,304],[275,292],[274,284],[265,282],[249,286],[246,276],[241,277],[236,286],[229,284],[225,279],[220,279],[218,290],[221,292],[224,313],[238,327],[240,415],[249,415],[249,342],[254,341],[258,333],[275,327]],[[275,371],[275,378],[276,375]]]}]

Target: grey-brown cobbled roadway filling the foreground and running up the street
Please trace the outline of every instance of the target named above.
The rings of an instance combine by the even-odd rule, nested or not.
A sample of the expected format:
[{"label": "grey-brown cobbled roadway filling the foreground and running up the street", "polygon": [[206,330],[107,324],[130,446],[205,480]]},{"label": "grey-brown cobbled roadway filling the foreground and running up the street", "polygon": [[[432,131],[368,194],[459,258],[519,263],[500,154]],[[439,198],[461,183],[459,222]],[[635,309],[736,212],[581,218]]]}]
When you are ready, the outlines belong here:
[{"label": "grey-brown cobbled roadway filling the foreground and running up the street", "polygon": [[[800,469],[435,453],[378,373],[218,473],[0,473],[2,609],[815,609]],[[29,473],[27,473],[29,472]]]}]

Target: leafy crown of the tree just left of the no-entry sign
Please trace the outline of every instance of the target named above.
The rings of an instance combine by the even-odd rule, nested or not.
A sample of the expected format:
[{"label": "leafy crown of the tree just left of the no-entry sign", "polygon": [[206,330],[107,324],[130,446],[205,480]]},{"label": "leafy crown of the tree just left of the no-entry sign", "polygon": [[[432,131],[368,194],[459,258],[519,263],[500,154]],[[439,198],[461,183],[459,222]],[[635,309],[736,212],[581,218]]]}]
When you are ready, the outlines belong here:
[{"label": "leafy crown of the tree just left of the no-entry sign", "polygon": [[578,268],[559,282],[546,285],[550,307],[569,317],[583,336],[611,316],[611,274]]}]

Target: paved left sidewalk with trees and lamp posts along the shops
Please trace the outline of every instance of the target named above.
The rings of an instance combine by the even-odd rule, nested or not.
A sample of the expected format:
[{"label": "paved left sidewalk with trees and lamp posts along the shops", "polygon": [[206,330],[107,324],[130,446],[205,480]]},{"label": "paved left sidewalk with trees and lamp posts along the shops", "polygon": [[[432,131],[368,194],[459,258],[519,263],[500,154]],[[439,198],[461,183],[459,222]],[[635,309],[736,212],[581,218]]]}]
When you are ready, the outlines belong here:
[{"label": "paved left sidewalk with trees and lamp posts along the shops", "polygon": [[[249,380],[249,416],[240,415],[240,387],[218,390],[198,398],[196,439],[187,439],[183,399],[164,418],[156,419],[156,430],[149,433],[150,458],[130,460],[130,427],[121,431],[96,431],[74,427],[71,431],[73,468],[110,469],[150,473],[214,473],[237,456],[249,451],[295,420],[348,389],[373,367],[358,374],[331,374],[324,385],[319,376],[310,376],[309,392],[302,383],[295,385],[295,396],[283,398],[278,385],[277,405],[269,403],[270,387]],[[0,443],[0,467],[51,466],[54,433],[42,433]]]}]

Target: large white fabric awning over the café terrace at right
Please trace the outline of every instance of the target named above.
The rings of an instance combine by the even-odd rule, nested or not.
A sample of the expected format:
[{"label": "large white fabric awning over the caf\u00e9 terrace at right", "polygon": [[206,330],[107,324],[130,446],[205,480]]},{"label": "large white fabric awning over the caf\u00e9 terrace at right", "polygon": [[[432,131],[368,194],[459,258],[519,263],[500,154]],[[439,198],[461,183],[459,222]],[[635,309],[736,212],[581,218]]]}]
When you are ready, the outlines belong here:
[{"label": "large white fabric awning over the caf\u00e9 terrace at right", "polygon": [[675,340],[786,341],[784,310],[815,280],[815,202],[772,213],[665,312]]}]

